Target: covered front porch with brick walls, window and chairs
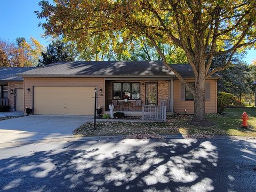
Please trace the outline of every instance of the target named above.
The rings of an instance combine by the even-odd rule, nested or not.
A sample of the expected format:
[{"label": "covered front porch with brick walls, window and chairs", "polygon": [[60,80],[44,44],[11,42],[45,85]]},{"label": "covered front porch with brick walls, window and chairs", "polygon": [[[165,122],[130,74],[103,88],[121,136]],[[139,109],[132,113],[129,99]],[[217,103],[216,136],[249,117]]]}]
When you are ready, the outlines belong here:
[{"label": "covered front porch with brick walls, window and chairs", "polygon": [[110,113],[110,104],[114,105],[115,112],[125,115],[142,115],[143,110],[156,110],[157,106],[166,106],[166,115],[172,115],[173,78],[108,78],[105,80],[105,114]]}]

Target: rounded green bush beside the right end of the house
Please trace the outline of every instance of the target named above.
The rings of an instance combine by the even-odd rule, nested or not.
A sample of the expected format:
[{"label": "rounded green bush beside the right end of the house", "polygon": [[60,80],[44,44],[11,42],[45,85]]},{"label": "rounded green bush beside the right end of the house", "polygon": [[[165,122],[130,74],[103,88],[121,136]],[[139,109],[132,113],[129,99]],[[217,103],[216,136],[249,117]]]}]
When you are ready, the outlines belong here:
[{"label": "rounded green bush beside the right end of the house", "polygon": [[234,103],[235,100],[235,95],[231,93],[218,92],[218,113],[221,114],[227,106]]}]

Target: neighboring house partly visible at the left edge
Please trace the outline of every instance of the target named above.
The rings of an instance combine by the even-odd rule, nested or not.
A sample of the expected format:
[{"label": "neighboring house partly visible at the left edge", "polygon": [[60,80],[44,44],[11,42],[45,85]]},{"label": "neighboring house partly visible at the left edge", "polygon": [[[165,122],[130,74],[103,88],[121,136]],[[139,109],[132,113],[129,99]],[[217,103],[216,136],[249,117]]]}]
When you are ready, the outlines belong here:
[{"label": "neighboring house partly visible at the left edge", "polygon": [[23,111],[23,78],[17,75],[34,67],[0,67],[0,106]]}]

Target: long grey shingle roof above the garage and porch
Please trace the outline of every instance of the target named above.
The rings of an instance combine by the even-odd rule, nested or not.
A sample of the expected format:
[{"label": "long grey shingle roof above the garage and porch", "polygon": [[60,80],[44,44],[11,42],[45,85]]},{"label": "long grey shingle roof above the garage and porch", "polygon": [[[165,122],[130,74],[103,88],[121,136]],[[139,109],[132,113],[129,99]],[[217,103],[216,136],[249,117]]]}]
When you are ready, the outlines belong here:
[{"label": "long grey shingle roof above the garage and porch", "polygon": [[[171,65],[183,77],[195,77],[190,65]],[[162,61],[62,61],[20,76],[174,76]]]}]

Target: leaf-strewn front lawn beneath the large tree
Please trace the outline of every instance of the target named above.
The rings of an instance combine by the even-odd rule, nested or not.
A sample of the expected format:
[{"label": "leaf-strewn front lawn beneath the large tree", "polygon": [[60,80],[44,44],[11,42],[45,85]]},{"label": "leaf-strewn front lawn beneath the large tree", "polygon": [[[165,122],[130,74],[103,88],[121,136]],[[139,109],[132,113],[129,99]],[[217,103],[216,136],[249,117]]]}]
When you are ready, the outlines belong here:
[{"label": "leaf-strewn front lawn beneath the large tree", "polygon": [[[249,115],[249,128],[242,129],[240,118],[243,111]],[[188,135],[236,135],[256,137],[256,109],[230,108],[225,114],[207,114],[207,119],[217,123],[215,126],[188,125],[191,115],[175,115],[167,118],[165,123],[151,122],[97,122],[97,130],[93,129],[93,123],[85,123],[78,127],[74,134],[77,136],[110,136],[129,134],[188,134]]]}]

